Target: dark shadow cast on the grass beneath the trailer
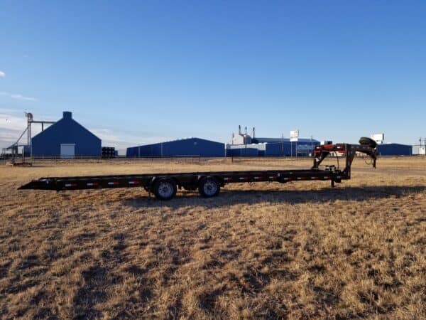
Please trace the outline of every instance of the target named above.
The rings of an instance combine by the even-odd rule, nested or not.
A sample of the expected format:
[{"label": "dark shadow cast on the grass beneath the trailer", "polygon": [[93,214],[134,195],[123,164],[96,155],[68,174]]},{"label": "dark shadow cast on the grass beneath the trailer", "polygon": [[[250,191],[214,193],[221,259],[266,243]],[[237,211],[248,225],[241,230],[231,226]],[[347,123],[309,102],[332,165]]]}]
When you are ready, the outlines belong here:
[{"label": "dark shadow cast on the grass beneath the trailer", "polygon": [[366,201],[388,197],[403,197],[411,193],[426,191],[426,186],[365,186],[337,187],[320,190],[226,190],[219,196],[202,198],[197,192],[178,192],[170,201],[158,201],[155,197],[142,196],[124,201],[127,206],[182,208],[186,206],[203,206],[220,208],[240,203],[324,203],[327,201]]}]

